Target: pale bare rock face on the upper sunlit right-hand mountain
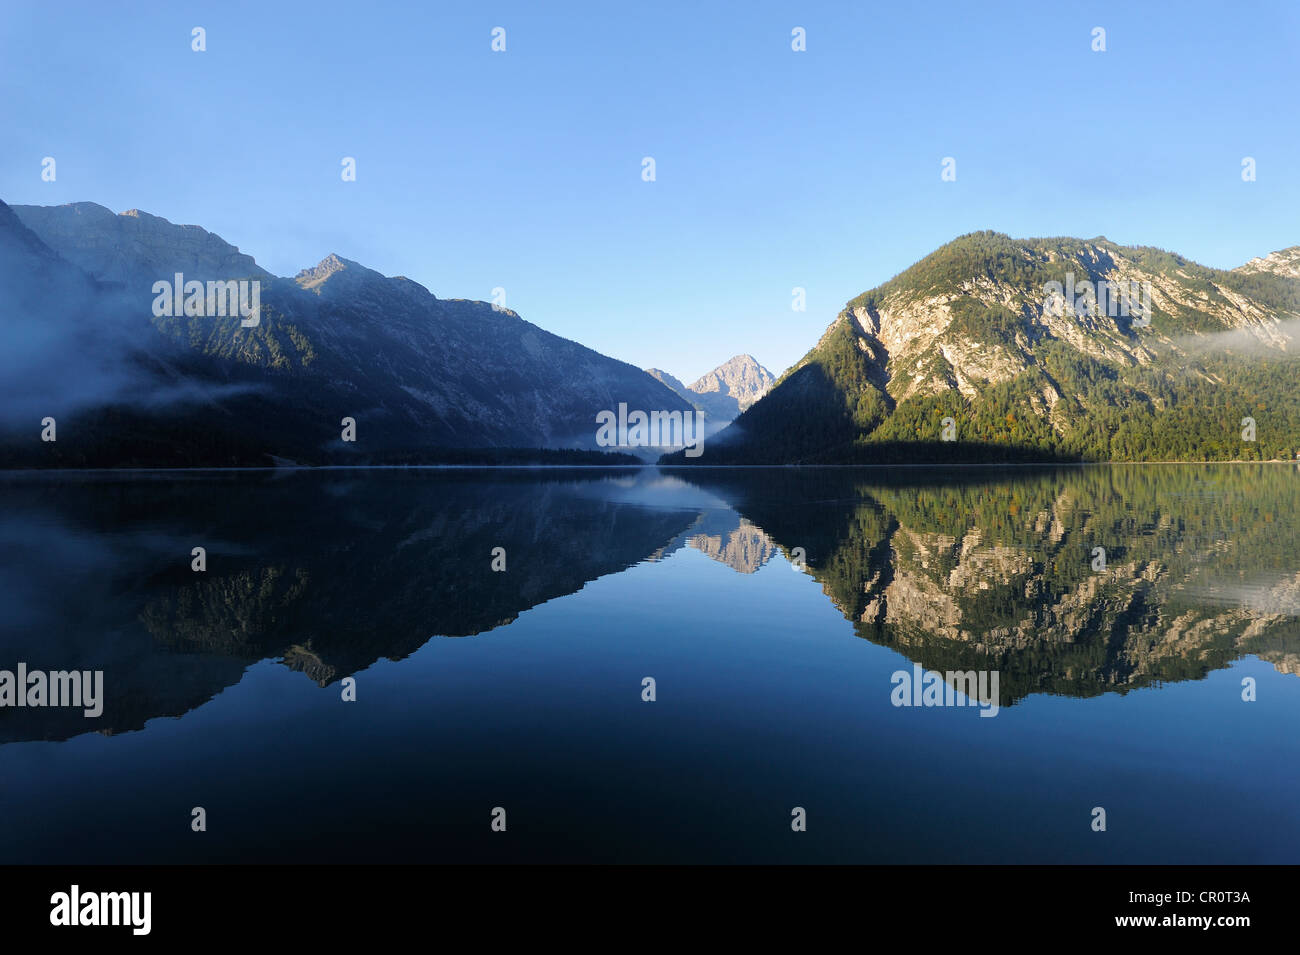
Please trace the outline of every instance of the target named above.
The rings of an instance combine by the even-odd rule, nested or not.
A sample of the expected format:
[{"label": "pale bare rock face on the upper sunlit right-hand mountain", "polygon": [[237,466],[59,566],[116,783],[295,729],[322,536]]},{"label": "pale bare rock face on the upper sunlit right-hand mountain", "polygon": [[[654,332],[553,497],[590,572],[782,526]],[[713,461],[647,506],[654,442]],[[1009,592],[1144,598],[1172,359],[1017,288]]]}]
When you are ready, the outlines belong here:
[{"label": "pale bare rock face on the upper sunlit right-hand mountain", "polygon": [[[1104,365],[1135,368],[1190,357],[1214,331],[1239,329],[1279,350],[1296,338],[1296,301],[1279,308],[1252,296],[1249,290],[1234,287],[1230,273],[1216,275],[1191,262],[1164,260],[1150,249],[1104,239],[1060,247],[1013,243],[1011,253],[1023,260],[1026,275],[1043,281],[1024,281],[1014,269],[1004,275],[980,274],[976,266],[952,283],[927,287],[896,281],[849,303],[842,314],[861,335],[859,347],[874,353],[885,391],[896,403],[952,390],[978,398],[991,386],[1026,373],[1036,364],[1040,346],[1053,342]],[[1300,272],[1292,274],[1292,269],[1297,262],[1300,248],[1254,260],[1242,272],[1296,277]],[[1075,300],[1052,308],[1045,286],[1065,286],[1070,275],[1078,290]],[[1098,282],[1148,288],[1150,325],[1140,324],[1136,305],[1128,316],[1118,314],[1118,305],[1113,309],[1117,314],[1092,305],[1096,290],[1084,296],[1084,283]],[[1008,321],[998,327],[993,314]],[[1044,388],[1040,398],[1037,413],[1050,413],[1062,398],[1060,386]],[[1053,426],[1063,430],[1066,425]]]}]

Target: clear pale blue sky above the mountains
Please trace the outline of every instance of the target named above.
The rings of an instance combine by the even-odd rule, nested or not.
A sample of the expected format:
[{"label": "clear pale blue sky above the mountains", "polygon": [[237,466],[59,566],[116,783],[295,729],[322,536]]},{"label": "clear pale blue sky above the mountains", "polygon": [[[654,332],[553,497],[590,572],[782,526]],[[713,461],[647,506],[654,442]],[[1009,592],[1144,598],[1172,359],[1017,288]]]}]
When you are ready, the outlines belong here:
[{"label": "clear pale blue sky above the mountains", "polygon": [[499,286],[688,382],[779,373],[976,229],[1221,268],[1300,244],[1297,51],[1291,1],[8,4],[0,199],[198,223],[277,274]]}]

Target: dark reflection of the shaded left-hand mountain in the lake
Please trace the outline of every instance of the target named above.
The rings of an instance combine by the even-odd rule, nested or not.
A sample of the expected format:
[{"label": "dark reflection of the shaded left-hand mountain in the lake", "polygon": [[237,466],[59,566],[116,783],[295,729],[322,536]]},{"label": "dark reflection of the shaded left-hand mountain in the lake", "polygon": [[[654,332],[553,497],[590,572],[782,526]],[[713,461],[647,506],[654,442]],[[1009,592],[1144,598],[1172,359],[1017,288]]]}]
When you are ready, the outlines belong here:
[{"label": "dark reflection of the shaded left-hand mountain in the lake", "polygon": [[[257,660],[325,686],[508,624],[654,557],[699,516],[602,494],[616,479],[601,472],[51,481],[5,487],[0,668],[103,669],[101,732],[178,716]],[[86,730],[69,711],[0,709],[0,741]]]}]

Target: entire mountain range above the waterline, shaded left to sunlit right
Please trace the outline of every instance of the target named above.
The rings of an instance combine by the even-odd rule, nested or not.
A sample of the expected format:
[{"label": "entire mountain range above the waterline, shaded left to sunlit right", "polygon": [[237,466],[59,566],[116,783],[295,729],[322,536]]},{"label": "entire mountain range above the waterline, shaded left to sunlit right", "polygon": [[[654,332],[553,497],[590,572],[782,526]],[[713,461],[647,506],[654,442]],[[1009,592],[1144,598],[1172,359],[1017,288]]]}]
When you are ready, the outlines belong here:
[{"label": "entire mountain range above the waterline, shaded left to sunlit right", "polygon": [[[256,282],[256,320],[156,314],[173,275]],[[848,301],[784,373],[742,352],[689,386],[337,253],[276,277],[199,226],[94,203],[0,203],[0,279],[10,468],[1300,453],[1300,247],[1219,270],[972,233]],[[1053,308],[1053,283],[1141,287],[1149,314]],[[698,414],[705,452],[601,446],[620,404]]]}]

